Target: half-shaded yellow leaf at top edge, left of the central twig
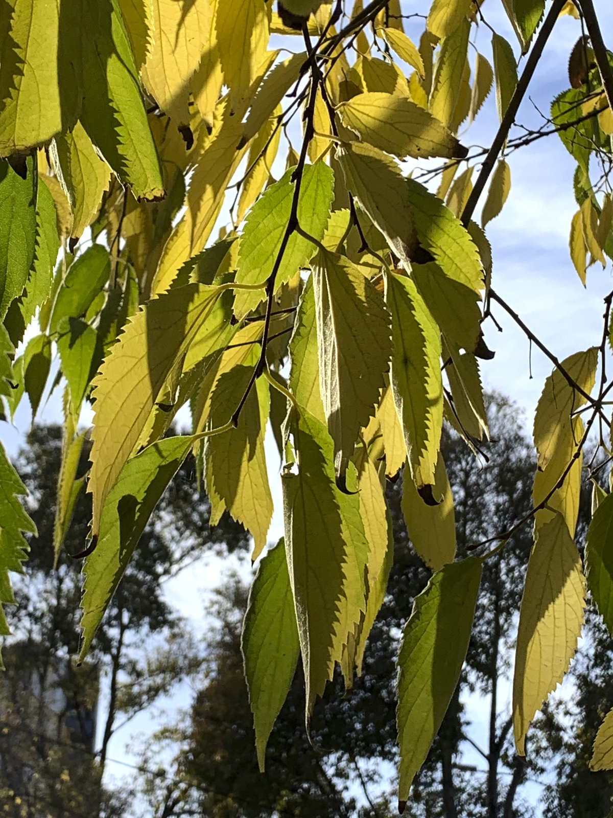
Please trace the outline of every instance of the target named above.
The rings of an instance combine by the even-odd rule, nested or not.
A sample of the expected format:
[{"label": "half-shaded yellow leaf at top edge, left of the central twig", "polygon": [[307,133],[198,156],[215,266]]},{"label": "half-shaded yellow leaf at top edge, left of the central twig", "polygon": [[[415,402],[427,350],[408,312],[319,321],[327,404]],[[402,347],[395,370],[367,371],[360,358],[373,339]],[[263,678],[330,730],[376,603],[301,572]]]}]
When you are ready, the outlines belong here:
[{"label": "half-shaded yellow leaf at top edge, left of the central twig", "polygon": [[221,0],[215,19],[224,81],[230,88],[232,100],[239,100],[253,83],[266,54],[266,2]]}]

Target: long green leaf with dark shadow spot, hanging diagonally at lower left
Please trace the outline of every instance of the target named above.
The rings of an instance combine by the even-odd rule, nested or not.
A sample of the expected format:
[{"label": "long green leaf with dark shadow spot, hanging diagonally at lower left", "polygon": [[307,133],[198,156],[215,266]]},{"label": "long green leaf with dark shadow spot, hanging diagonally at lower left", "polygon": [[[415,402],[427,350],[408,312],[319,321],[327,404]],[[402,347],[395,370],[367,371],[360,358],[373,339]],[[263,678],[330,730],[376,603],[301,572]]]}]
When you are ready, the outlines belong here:
[{"label": "long green leaf with dark shadow spot, hanging diagonally at lower left", "polygon": [[151,512],[193,443],[190,436],[165,438],[122,464],[105,497],[96,547],[83,565],[83,643],[79,662],[87,655]]}]

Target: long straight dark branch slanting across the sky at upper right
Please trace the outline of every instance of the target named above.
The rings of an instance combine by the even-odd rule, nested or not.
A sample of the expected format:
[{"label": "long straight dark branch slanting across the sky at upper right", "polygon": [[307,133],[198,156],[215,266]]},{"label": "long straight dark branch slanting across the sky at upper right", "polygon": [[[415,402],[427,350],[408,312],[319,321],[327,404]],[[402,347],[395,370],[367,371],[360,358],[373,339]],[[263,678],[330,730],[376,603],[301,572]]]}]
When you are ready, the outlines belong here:
[{"label": "long straight dark branch slanting across the sky at upper right", "polygon": [[[498,155],[508,137],[508,132],[515,121],[521,101],[526,95],[530,80],[532,79],[532,76],[535,73],[535,68],[539,64],[540,58],[543,54],[545,43],[548,41],[549,34],[552,33],[553,26],[555,25],[560,11],[562,11],[564,2],[565,0],[553,0],[552,6],[548,11],[548,15],[545,17],[539,34],[535,39],[535,44],[530,50],[530,54],[526,60],[526,68],[521,72],[521,77],[517,82],[517,88],[515,88],[511,101],[508,104],[508,108],[504,112],[503,121],[500,123],[498,133],[496,133],[494,142],[492,142],[490,150],[487,152],[487,156],[481,165],[481,171],[477,177],[477,182],[475,182],[475,187],[472,188],[471,195],[468,197],[468,202],[463,209],[462,222],[464,226],[467,226],[470,222],[472,213],[474,213],[475,208],[477,207],[479,197],[485,188],[485,183],[487,182],[488,178],[490,178],[490,173],[494,170],[494,164],[496,164]],[[588,0],[588,2],[591,2],[591,0]]]}]

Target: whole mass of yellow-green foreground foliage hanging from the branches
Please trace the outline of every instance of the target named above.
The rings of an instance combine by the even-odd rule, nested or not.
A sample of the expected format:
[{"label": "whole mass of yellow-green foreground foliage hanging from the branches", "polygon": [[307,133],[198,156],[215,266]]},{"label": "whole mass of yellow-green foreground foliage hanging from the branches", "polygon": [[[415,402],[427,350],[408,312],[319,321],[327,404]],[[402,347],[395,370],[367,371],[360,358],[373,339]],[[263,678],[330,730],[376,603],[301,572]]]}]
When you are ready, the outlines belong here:
[{"label": "whole mass of yellow-green foreground foliage hanging from the branches", "polygon": [[[242,641],[262,769],[298,657],[307,727],[334,668],[347,684],[360,672],[392,564],[384,484],[403,470],[402,511],[432,576],[397,659],[402,811],[462,672],[483,574],[518,528],[535,535],[513,678],[520,757],[575,654],[587,589],[613,627],[613,500],[601,488],[584,556],[574,540],[588,435],[611,449],[613,291],[593,345],[560,361],[494,289],[486,236],[508,155],[557,133],[576,161],[570,257],[584,284],[590,265],[606,266],[613,59],[593,0],[503,0],[512,43],[477,0],[349,6],[0,0],[0,399],[11,416],[26,394],[35,415],[46,389],[64,390],[56,563],[87,441],[81,660],[190,452],[211,523],[227,510],[262,555],[271,426],[284,537],[258,563]],[[570,87],[543,128],[517,134],[561,15],[578,20]],[[491,34],[487,53],[472,47],[477,29]],[[492,88],[499,126],[486,149],[465,145],[459,129]],[[442,430],[446,419],[482,456],[479,362],[497,311],[553,370],[530,509],[486,537],[475,528],[460,553]],[[168,435],[181,407],[190,434]],[[0,602],[11,603],[9,572],[24,570],[35,523],[3,450],[0,484]],[[613,766],[612,712],[590,765]]]}]

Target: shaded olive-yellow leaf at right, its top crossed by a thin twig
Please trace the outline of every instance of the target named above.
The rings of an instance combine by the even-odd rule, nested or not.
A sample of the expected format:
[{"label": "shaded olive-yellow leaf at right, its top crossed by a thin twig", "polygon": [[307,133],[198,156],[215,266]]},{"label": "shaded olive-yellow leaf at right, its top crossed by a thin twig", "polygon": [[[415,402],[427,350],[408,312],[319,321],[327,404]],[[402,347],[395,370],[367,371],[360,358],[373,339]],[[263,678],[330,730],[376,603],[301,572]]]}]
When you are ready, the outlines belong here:
[{"label": "shaded olive-yellow leaf at right, its top crossed by a thin twig", "polygon": [[[596,380],[597,362],[598,348],[591,347],[567,357],[562,361],[562,367],[579,388],[589,394]],[[544,470],[571,430],[571,412],[580,409],[585,402],[586,399],[568,384],[562,373],[554,369],[545,381],[535,413],[534,437],[539,470]]]}]

